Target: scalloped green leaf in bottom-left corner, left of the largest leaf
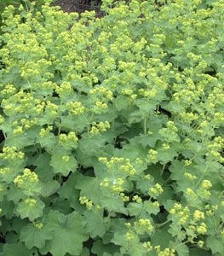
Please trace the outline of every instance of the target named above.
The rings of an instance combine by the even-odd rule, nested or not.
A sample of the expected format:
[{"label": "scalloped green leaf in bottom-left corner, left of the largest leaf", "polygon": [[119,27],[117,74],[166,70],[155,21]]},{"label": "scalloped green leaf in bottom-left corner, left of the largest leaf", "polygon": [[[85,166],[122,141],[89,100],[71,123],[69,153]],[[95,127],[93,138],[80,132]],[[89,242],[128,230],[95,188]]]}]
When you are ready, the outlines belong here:
[{"label": "scalloped green leaf in bottom-left corner, left of the largest leaf", "polygon": [[[39,224],[41,225],[41,224]],[[52,232],[45,224],[37,226],[34,224],[27,224],[20,232],[20,241],[24,241],[28,249],[32,247],[42,248],[45,246],[45,241],[52,238]]]}]

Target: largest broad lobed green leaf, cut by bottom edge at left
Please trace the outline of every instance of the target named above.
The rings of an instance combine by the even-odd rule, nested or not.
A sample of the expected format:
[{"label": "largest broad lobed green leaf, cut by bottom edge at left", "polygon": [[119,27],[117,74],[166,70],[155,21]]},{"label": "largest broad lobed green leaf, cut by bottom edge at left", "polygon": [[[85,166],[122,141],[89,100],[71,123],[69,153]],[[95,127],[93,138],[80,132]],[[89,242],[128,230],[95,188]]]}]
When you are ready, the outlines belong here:
[{"label": "largest broad lobed green leaf, cut by bottom edge at left", "polygon": [[49,211],[48,228],[53,232],[51,241],[47,241],[47,248],[54,256],[66,253],[80,255],[83,251],[83,241],[89,237],[84,228],[86,224],[83,216],[78,212],[64,215],[58,211]]}]

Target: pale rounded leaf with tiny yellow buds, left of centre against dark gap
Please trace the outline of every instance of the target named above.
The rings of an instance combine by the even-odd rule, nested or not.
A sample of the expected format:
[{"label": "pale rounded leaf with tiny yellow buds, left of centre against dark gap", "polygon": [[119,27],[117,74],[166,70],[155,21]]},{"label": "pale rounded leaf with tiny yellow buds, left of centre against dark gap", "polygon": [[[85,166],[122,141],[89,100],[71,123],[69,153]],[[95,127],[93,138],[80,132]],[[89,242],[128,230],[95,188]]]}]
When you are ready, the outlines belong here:
[{"label": "pale rounded leaf with tiny yellow buds, left of centre against dark gap", "polygon": [[72,155],[53,154],[51,156],[50,166],[54,168],[55,173],[61,173],[67,176],[69,172],[77,170],[77,160]]}]

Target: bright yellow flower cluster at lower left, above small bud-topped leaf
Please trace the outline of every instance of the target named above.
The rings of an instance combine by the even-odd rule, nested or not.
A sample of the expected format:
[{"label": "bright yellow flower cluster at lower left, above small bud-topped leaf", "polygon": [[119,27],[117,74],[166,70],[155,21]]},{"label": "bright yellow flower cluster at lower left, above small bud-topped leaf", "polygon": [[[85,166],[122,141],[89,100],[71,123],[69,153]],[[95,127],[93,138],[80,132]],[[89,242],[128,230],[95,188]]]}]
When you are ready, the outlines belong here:
[{"label": "bright yellow flower cluster at lower left, above small bud-topped leaf", "polygon": [[35,172],[32,172],[30,169],[25,168],[22,175],[18,175],[14,178],[14,184],[19,188],[23,188],[23,184],[26,183],[38,183],[38,176]]}]

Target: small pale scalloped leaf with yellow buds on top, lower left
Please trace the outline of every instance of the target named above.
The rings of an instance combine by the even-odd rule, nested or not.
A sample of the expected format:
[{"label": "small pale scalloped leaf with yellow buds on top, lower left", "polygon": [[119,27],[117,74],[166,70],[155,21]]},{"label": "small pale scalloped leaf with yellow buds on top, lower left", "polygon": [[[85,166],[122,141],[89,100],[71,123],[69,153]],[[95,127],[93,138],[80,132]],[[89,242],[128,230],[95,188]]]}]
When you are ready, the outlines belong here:
[{"label": "small pale scalloped leaf with yellow buds on top, lower left", "polygon": [[38,198],[35,199],[33,203],[29,200],[30,199],[21,201],[16,210],[21,218],[29,218],[33,221],[35,218],[39,218],[43,215],[44,203]]}]

